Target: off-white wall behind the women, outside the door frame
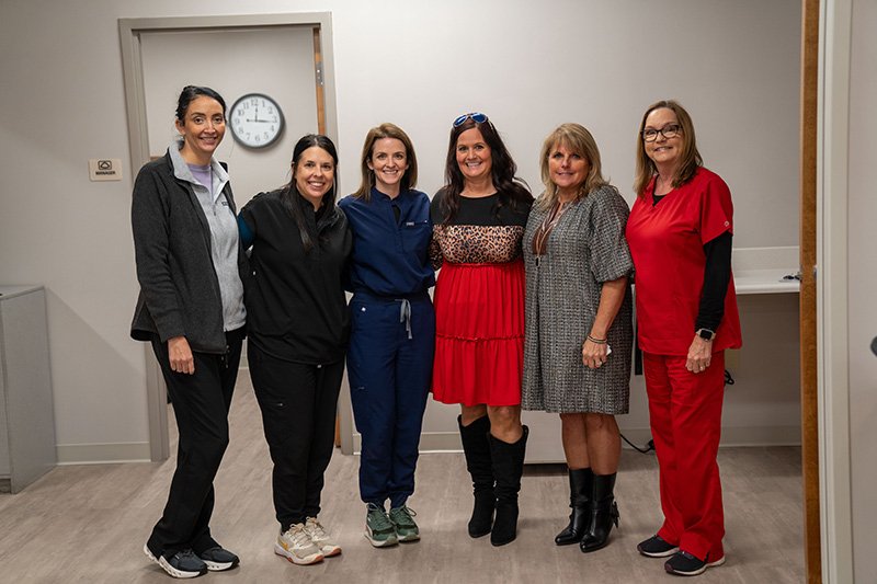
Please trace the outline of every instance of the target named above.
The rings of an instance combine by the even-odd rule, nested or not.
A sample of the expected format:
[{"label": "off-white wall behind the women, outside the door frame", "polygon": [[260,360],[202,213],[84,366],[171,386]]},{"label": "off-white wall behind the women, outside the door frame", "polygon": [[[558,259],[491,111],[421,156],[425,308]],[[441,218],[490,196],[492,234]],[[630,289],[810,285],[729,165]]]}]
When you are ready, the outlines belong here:
[{"label": "off-white wall behind the women, outside the door frame", "polygon": [[[117,19],[300,11],[332,12],[344,191],[358,183],[365,131],[392,121],[434,192],[449,122],[476,110],[534,191],[542,138],[586,125],[633,201],[641,113],[679,98],[731,186],[736,247],[797,243],[797,0],[3,0],[0,282],[46,285],[62,460],[148,457],[144,350],[127,334],[136,169],[90,183],[86,165],[129,160]],[[453,420],[435,415],[444,428]]]}]

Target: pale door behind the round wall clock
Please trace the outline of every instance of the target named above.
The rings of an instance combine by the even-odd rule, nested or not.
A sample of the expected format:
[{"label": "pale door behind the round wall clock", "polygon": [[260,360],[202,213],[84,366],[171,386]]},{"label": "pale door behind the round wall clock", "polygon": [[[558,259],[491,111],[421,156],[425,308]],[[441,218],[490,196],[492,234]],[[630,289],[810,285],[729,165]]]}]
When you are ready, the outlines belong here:
[{"label": "pale door behind the round wall clock", "polygon": [[176,136],[174,111],[184,85],[215,89],[229,108],[247,93],[263,93],[283,111],[281,138],[248,149],[229,128],[216,158],[228,163],[238,207],[288,182],[293,146],[319,129],[310,26],[141,33],[140,55],[150,157],[163,156]]}]

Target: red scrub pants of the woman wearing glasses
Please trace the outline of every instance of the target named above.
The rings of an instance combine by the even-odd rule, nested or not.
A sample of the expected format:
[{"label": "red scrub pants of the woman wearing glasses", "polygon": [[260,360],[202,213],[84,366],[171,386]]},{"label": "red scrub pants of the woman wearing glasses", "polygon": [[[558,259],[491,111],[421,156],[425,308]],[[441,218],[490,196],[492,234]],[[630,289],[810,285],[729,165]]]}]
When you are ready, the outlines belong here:
[{"label": "red scrub pants of the woman wearing glasses", "polygon": [[685,357],[642,354],[664,523],[658,535],[701,560],[725,556],[725,514],[716,455],[721,437],[725,352],[704,373]]}]

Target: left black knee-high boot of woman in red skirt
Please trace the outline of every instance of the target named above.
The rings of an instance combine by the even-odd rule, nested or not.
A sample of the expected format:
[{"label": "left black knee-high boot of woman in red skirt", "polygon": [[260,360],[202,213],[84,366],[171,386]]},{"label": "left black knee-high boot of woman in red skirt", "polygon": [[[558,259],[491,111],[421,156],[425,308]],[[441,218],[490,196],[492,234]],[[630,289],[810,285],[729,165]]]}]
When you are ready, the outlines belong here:
[{"label": "left black knee-high boot of woman in red skirt", "polygon": [[466,455],[466,469],[472,477],[472,494],[475,505],[469,519],[469,537],[481,537],[493,527],[493,508],[497,495],[493,492],[493,468],[490,461],[490,420],[482,416],[463,425],[463,416],[457,416],[459,437],[463,440],[463,453]]}]

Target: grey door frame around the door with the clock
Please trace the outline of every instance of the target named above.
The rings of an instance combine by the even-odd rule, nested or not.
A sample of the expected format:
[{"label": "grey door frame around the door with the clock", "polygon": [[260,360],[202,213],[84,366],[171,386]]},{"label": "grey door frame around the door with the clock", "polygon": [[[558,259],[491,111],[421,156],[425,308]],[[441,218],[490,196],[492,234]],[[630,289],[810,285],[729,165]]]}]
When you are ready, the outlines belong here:
[{"label": "grey door frame around the door with the clock", "polygon": [[[317,111],[322,113],[321,130],[338,142],[338,107],[334,83],[334,48],[332,44],[332,15],[330,12],[300,12],[288,14],[240,14],[230,16],[169,16],[155,19],[119,19],[118,36],[122,44],[122,64],[125,81],[130,168],[139,169],[149,162],[149,144],[146,119],[146,95],[140,51],[140,35],[164,31],[230,31],[264,28],[269,26],[300,26],[315,31],[315,54],[321,59],[321,76],[317,79]],[[167,393],[161,370],[152,351],[147,345],[146,398],[149,426],[149,455],[151,460],[170,456],[168,436]],[[340,408],[341,424],[351,424],[350,408]],[[343,438],[343,433],[342,433]],[[342,445],[343,446],[343,445]]]}]

